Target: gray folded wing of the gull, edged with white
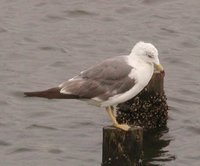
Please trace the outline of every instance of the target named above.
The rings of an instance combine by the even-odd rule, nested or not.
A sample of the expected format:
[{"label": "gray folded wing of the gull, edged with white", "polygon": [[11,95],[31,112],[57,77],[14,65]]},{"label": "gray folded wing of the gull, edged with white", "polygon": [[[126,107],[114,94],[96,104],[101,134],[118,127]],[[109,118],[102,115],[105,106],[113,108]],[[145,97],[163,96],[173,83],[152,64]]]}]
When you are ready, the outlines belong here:
[{"label": "gray folded wing of the gull, edged with white", "polygon": [[128,91],[135,85],[135,80],[128,76],[133,67],[126,63],[125,58],[121,56],[108,59],[81,72],[60,85],[61,93],[107,100]]}]

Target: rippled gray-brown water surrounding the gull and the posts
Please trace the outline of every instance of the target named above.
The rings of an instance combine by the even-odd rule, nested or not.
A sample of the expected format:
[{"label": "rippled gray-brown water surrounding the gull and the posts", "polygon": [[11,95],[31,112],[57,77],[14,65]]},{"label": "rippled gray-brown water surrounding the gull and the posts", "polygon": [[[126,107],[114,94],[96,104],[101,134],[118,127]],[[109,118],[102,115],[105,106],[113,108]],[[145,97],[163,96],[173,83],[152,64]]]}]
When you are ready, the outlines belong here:
[{"label": "rippled gray-brown water surrounding the gull and the posts", "polygon": [[105,111],[27,99],[139,40],[165,67],[168,129],[146,136],[145,165],[200,165],[200,1],[1,0],[0,165],[101,164]]}]

